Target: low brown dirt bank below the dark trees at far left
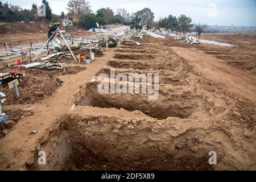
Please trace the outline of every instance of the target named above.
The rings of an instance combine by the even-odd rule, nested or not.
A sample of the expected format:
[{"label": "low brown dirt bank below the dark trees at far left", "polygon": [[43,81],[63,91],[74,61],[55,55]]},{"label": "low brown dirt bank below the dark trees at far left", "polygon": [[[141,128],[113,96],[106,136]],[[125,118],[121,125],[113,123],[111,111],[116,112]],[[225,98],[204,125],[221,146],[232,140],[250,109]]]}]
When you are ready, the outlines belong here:
[{"label": "low brown dirt bank below the dark trees at far left", "polygon": [[46,32],[48,23],[7,23],[0,26],[0,34]]}]

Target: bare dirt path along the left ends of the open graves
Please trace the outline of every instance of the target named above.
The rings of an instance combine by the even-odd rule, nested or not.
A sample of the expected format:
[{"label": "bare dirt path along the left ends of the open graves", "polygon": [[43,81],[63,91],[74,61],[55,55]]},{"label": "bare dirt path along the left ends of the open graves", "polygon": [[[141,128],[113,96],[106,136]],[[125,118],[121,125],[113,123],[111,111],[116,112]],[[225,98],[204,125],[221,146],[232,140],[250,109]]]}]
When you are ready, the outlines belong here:
[{"label": "bare dirt path along the left ends of the open graves", "polygon": [[[12,169],[11,167],[14,164],[15,170],[25,169],[24,162],[26,163],[31,157],[32,151],[36,150],[36,144],[47,127],[52,126],[61,115],[68,114],[71,111],[75,93],[79,86],[89,82],[93,75],[96,75],[104,67],[106,61],[113,57],[113,52],[114,48],[110,49],[108,53],[105,53],[105,56],[98,57],[94,63],[85,65],[87,69],[77,75],[60,76],[59,78],[64,80],[60,89],[40,104],[28,107],[28,109],[33,109],[34,115],[20,119],[15,126],[15,130],[0,140],[0,169]],[[32,130],[36,130],[38,133],[32,135]]]}]

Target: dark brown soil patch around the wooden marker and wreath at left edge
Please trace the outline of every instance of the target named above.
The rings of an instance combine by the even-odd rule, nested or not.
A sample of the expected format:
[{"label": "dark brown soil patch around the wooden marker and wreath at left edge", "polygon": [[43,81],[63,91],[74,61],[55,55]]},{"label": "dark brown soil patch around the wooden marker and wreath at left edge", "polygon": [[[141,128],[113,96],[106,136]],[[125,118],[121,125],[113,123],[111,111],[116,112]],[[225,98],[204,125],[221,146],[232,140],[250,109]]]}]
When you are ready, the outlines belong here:
[{"label": "dark brown soil patch around the wooden marker and wreath at left edge", "polygon": [[[83,71],[84,67],[67,67],[66,74],[76,74],[80,71]],[[51,96],[55,90],[61,86],[62,82],[57,76],[63,75],[63,70],[53,69],[38,69],[38,68],[4,68],[1,70],[2,73],[18,71],[26,74],[26,77],[19,82],[19,94],[20,98],[17,99],[14,89],[6,88],[8,85],[2,85],[3,88],[6,88],[3,92],[6,94],[5,105],[13,104],[34,104],[44,97]]]}]

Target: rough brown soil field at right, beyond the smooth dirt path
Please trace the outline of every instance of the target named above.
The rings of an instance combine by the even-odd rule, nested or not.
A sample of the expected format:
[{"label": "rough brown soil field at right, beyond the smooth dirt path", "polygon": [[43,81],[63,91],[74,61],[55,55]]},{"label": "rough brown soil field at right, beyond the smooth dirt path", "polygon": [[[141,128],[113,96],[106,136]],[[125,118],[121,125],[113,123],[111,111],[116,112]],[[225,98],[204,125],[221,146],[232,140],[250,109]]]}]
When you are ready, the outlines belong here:
[{"label": "rough brown soil field at right, beyond the smooth dirt path", "polygon": [[242,70],[256,73],[256,37],[246,34],[236,35],[203,35],[201,39],[215,40],[221,43],[229,43],[236,47],[221,47],[212,44],[191,45],[188,43],[181,43],[172,38],[168,38],[168,44],[172,47],[183,48],[197,48],[213,55],[217,59],[224,61],[234,67]]}]

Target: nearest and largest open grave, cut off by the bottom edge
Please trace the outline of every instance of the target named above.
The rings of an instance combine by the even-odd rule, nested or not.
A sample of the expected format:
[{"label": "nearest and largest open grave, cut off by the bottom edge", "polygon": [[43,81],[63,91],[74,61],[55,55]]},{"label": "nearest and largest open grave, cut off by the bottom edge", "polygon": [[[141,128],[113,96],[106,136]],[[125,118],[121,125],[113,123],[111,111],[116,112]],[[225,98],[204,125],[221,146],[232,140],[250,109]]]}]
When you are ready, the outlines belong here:
[{"label": "nearest and largest open grave, cut off by the bottom edge", "polygon": [[[28,170],[256,168],[250,152],[255,136],[246,129],[241,132],[241,127],[210,120],[157,121],[81,113],[86,111],[60,118],[59,127],[42,138],[38,148],[47,154],[46,165],[38,165],[39,156],[35,154],[26,165]],[[216,152],[217,165],[209,165],[210,151]]]}]

